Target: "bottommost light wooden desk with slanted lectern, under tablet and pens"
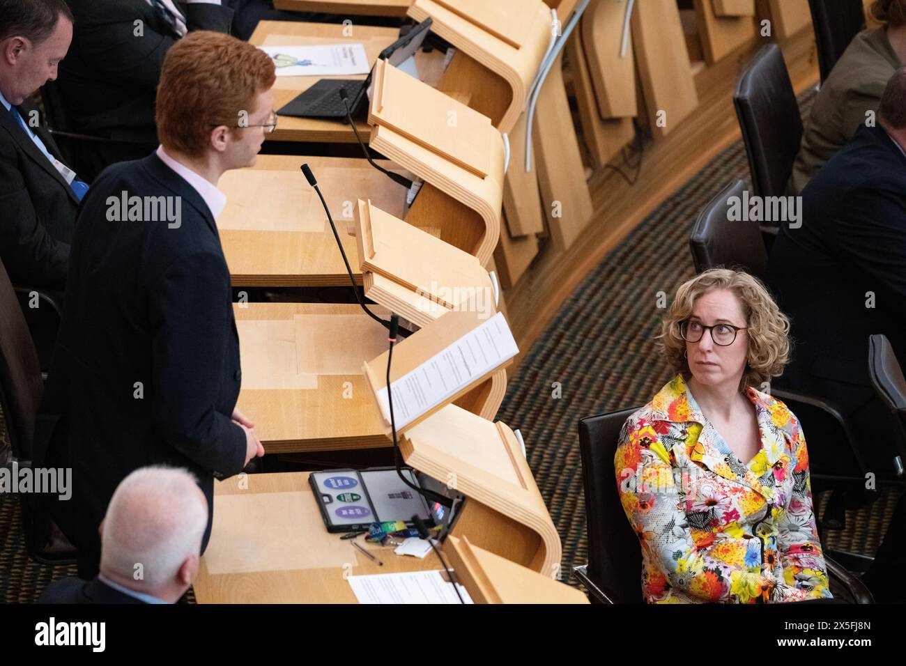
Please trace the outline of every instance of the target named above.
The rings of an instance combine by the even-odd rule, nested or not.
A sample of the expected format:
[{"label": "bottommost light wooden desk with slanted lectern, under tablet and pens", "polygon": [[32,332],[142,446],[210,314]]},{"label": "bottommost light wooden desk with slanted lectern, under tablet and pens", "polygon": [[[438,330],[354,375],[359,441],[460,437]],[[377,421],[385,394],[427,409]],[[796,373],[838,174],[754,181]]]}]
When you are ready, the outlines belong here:
[{"label": "bottommost light wooden desk with slanted lectern, under tablet and pens", "polygon": [[[442,569],[437,555],[396,555],[324,528],[307,472],[252,474],[214,485],[214,526],[198,566],[198,603],[357,603],[352,575]],[[582,592],[448,536],[448,564],[475,603],[588,603]]]}]

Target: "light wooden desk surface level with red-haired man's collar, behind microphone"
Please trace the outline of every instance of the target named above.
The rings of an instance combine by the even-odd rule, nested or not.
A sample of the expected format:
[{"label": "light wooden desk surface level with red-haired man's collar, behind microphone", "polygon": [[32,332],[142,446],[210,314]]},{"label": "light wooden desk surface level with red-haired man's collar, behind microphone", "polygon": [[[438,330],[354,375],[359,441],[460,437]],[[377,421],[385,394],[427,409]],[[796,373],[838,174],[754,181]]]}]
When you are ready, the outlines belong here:
[{"label": "light wooden desk surface level with red-haired man's collar, behind microphone", "polygon": [[254,167],[227,172],[218,183],[226,208],[217,227],[233,285],[349,284],[321,202],[299,170],[303,162],[318,179],[358,284],[359,249],[348,233],[356,201],[370,198],[405,217],[406,190],[364,159],[259,155]]}]

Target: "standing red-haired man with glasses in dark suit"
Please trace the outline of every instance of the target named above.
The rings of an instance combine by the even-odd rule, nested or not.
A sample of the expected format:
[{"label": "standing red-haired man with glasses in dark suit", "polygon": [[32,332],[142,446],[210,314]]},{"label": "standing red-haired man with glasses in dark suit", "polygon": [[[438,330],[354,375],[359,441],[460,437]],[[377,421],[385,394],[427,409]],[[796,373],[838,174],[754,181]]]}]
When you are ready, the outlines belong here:
[{"label": "standing red-haired man with glasses in dark suit", "polygon": [[[235,409],[239,342],[215,218],[218,179],[254,164],[275,127],[274,80],[254,46],[189,34],[161,72],[162,145],[106,169],[82,202],[34,444],[36,466],[72,467],[72,500],[47,501],[82,577],[97,571],[97,526],[130,471],[188,468],[213,509],[214,472],[264,455]],[[206,544],[209,531],[210,518]]]}]

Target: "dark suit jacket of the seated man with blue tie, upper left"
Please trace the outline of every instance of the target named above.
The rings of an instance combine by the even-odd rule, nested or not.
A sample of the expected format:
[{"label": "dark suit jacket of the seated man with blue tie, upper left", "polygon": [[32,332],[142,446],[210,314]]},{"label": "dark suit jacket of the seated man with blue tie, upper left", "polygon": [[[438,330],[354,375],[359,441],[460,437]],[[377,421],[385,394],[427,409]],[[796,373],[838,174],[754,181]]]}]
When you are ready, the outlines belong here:
[{"label": "dark suit jacket of the seated man with blue tie, upper left", "polygon": [[[32,108],[22,108],[28,122]],[[35,134],[62,162],[50,132]],[[11,113],[0,105],[0,259],[14,284],[62,288],[79,199]]]}]

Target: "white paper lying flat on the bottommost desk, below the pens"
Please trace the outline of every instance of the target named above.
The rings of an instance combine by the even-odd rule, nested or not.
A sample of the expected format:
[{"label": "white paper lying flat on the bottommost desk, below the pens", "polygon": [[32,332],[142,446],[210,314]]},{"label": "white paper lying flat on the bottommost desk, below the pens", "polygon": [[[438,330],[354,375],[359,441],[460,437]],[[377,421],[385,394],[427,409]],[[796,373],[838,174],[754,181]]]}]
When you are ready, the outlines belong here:
[{"label": "white paper lying flat on the bottommost desk, below the pens", "polygon": [[[453,584],[439,571],[352,575],[349,584],[359,603],[459,603]],[[457,588],[464,602],[473,603],[465,587]]]}]

